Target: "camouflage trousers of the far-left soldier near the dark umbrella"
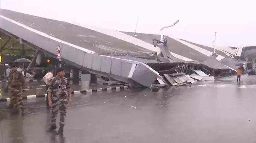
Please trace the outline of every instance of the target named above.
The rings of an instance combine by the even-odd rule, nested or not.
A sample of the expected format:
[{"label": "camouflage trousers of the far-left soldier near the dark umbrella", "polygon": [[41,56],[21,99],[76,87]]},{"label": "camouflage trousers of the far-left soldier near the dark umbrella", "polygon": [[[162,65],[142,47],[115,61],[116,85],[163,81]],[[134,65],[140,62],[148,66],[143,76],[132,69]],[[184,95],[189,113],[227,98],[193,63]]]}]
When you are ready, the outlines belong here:
[{"label": "camouflage trousers of the far-left soldier near the dark umbrella", "polygon": [[24,111],[24,103],[22,99],[22,89],[10,88],[10,107],[18,108]]}]

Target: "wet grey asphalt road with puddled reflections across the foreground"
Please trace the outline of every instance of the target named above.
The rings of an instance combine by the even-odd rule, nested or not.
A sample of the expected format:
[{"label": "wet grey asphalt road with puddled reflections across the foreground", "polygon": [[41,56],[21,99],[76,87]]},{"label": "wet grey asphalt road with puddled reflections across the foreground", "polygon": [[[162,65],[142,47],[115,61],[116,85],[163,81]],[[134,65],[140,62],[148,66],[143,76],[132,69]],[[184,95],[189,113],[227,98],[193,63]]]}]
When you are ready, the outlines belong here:
[{"label": "wet grey asphalt road with puddled reflections across the foreground", "polygon": [[242,80],[84,94],[69,106],[63,137],[45,132],[44,99],[26,100],[24,117],[1,109],[0,142],[256,143],[256,80]]}]

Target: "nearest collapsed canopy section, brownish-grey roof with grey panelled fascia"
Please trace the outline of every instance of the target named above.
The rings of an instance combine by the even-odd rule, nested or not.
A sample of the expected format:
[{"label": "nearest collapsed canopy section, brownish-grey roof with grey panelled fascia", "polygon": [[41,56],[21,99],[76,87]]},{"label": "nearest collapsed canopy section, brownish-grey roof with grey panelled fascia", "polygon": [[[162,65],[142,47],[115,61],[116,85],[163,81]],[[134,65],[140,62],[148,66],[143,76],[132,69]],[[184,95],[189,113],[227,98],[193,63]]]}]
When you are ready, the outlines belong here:
[{"label": "nearest collapsed canopy section, brownish-grey roof with grey panelled fascia", "polygon": [[5,34],[15,35],[27,45],[32,43],[53,55],[61,46],[62,59],[91,73],[145,87],[162,79],[145,63],[109,56],[154,55],[151,50],[63,21],[3,9],[0,14],[0,28]]}]

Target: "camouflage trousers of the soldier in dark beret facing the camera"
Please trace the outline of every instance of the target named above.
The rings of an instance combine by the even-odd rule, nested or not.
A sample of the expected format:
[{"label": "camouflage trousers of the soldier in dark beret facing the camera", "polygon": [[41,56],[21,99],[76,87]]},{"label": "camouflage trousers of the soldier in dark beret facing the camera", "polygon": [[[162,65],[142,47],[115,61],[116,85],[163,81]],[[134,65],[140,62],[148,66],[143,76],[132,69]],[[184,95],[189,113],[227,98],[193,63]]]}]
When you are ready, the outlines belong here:
[{"label": "camouflage trousers of the soldier in dark beret facing the camera", "polygon": [[56,117],[58,112],[60,113],[60,126],[65,125],[65,117],[67,113],[67,104],[68,98],[64,97],[56,97],[56,95],[52,96],[52,119],[51,124],[56,125]]}]

